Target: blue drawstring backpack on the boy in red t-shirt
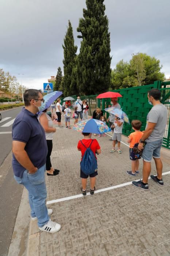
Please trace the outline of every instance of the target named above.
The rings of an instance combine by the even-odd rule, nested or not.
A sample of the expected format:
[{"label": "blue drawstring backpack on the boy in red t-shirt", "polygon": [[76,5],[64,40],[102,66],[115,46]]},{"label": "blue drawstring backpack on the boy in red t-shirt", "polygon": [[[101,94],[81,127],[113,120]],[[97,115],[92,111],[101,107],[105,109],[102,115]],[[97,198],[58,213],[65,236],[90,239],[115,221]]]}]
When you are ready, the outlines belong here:
[{"label": "blue drawstring backpack on the boy in red t-shirt", "polygon": [[81,141],[82,145],[86,148],[86,151],[80,163],[80,167],[82,172],[84,172],[86,175],[92,174],[97,171],[97,159],[93,151],[90,149],[92,142],[90,143],[90,146],[86,148],[86,146]]}]

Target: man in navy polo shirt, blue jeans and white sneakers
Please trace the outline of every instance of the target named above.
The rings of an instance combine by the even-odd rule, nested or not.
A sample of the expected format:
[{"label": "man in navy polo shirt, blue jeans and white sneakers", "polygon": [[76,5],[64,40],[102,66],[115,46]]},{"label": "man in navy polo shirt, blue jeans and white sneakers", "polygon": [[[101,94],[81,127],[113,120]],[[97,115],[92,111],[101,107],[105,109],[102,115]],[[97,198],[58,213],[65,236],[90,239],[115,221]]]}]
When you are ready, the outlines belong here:
[{"label": "man in navy polo shirt, blue jeans and white sneakers", "polygon": [[47,143],[37,112],[44,102],[39,90],[24,93],[25,108],[16,117],[12,127],[12,167],[14,178],[29,192],[32,220],[38,219],[39,229],[55,233],[61,225],[50,220],[52,209],[46,207],[45,163]]}]

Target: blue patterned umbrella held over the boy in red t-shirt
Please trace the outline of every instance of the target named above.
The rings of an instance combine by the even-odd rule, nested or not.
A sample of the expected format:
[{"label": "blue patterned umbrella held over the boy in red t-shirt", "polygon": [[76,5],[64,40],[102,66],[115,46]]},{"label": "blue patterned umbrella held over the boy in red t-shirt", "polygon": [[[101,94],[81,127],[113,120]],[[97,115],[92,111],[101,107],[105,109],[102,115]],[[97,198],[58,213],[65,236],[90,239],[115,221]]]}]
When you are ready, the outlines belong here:
[{"label": "blue patterned umbrella held over the boy in red t-shirt", "polygon": [[78,132],[105,133],[111,129],[104,122],[96,119],[86,119],[74,125],[73,129]]}]

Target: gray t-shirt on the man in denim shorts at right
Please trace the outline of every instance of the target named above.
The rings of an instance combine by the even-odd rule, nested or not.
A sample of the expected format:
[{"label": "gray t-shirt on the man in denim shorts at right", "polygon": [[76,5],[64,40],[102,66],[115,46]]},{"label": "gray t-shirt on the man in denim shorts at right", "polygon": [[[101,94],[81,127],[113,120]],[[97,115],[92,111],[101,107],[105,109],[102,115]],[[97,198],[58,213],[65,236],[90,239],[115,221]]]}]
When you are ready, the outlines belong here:
[{"label": "gray t-shirt on the man in denim shorts at right", "polygon": [[167,108],[163,104],[153,106],[147,115],[146,128],[148,123],[156,123],[156,125],[154,131],[146,139],[146,142],[162,139],[167,124]]}]

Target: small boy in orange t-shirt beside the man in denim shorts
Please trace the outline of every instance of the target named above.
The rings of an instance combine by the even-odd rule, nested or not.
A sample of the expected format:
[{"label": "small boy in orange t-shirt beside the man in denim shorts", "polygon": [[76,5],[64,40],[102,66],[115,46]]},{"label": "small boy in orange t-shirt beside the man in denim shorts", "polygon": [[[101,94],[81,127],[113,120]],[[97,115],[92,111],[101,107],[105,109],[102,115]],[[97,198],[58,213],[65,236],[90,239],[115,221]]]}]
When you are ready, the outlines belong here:
[{"label": "small boy in orange t-shirt beside the man in denim shorts", "polygon": [[136,143],[139,143],[139,140],[143,136],[143,132],[140,131],[140,128],[142,126],[142,123],[140,120],[132,120],[132,129],[135,132],[132,132],[129,135],[128,143],[130,143],[129,153],[130,153],[130,160],[132,161],[132,170],[127,171],[126,173],[131,176],[136,176],[136,174],[139,173],[139,159],[131,159],[131,152],[133,150],[133,147]]}]

